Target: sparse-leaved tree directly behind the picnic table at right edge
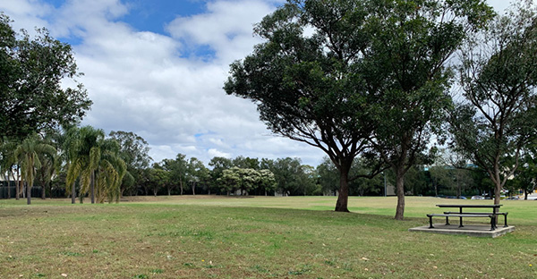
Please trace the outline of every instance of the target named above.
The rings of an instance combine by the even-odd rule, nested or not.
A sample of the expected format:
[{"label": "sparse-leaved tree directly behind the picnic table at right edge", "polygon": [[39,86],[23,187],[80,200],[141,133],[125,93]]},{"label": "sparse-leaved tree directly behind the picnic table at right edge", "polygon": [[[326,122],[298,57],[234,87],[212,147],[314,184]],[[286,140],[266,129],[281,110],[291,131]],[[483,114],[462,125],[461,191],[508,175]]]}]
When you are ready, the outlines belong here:
[{"label": "sparse-leaved tree directly behind the picnic table at right edge", "polygon": [[494,183],[494,203],[537,138],[537,17],[532,1],[498,16],[465,48],[461,101],[450,118],[452,145]]}]

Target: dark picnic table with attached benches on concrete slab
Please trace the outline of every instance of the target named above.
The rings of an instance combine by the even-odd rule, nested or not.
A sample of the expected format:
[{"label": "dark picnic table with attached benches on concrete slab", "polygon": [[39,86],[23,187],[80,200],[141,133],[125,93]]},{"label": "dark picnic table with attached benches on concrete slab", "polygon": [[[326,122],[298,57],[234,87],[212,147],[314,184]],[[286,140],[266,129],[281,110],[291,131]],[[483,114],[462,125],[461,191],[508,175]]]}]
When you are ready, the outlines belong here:
[{"label": "dark picnic table with attached benches on concrete slab", "polygon": [[[459,227],[464,227],[463,218],[464,217],[490,217],[490,231],[494,231],[497,228],[498,216],[503,215],[505,217],[505,226],[507,227],[507,212],[498,212],[499,207],[502,205],[437,205],[441,208],[459,208],[458,212],[444,212],[444,214],[428,214],[430,228],[432,226],[432,217],[433,216],[445,216],[446,224],[449,224],[449,217],[459,217]],[[464,208],[490,208],[492,209],[491,213],[486,212],[465,212]]]}]

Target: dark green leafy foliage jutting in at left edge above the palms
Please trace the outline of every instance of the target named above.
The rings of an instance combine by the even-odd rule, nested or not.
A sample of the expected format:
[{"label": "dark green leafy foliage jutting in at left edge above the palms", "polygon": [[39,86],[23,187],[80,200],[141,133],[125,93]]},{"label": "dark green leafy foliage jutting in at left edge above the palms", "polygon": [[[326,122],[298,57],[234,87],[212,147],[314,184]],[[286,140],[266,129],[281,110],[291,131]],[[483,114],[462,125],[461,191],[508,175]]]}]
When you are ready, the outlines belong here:
[{"label": "dark green leafy foliage jutting in at left edge above the palms", "polygon": [[[0,135],[25,139],[30,133],[80,120],[91,101],[81,83],[72,48],[47,30],[37,37],[16,34],[0,13]],[[69,79],[73,88],[64,88]]]}]

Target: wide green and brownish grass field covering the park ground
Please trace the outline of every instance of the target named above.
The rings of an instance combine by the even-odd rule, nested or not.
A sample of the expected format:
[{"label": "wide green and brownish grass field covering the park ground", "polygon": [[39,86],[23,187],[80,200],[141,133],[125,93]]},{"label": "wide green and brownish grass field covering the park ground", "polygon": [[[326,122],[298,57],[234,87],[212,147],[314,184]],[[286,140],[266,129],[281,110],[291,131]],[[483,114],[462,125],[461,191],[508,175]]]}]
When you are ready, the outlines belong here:
[{"label": "wide green and brownish grass field covering the park ground", "polygon": [[[408,232],[438,203],[407,197],[0,200],[0,278],[537,278],[537,201],[505,200],[499,238]],[[479,220],[478,220],[479,221]]]}]

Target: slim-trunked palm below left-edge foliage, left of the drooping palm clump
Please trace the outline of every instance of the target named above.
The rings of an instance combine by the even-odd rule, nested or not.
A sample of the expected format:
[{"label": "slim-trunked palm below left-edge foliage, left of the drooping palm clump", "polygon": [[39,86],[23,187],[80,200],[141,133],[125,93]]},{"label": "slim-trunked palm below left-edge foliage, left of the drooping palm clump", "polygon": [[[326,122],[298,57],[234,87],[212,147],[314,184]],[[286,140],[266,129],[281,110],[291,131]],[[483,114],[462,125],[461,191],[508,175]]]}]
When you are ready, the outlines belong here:
[{"label": "slim-trunked palm below left-edge foliage, left of the drooping palm clump", "polygon": [[55,152],[55,148],[41,142],[37,134],[30,135],[30,137],[22,140],[22,143],[15,149],[14,156],[19,160],[22,178],[27,182],[26,198],[29,205],[31,203],[31,188],[33,187],[37,169],[41,167],[38,155],[47,153],[54,156]]}]

